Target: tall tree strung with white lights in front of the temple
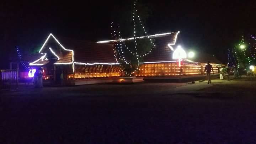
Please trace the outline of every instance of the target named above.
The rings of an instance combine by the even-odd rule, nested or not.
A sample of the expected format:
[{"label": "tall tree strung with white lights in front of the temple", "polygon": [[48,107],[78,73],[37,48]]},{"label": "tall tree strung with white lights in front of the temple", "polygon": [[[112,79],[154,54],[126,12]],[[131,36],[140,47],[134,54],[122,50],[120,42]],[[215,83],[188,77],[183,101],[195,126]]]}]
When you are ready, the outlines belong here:
[{"label": "tall tree strung with white lights in front of the temple", "polygon": [[[143,57],[155,47],[154,39],[147,37],[148,32],[145,30],[148,7],[146,7],[146,10],[142,10],[141,13],[139,13],[138,7],[142,8],[143,6],[138,4],[138,0],[134,0],[132,11],[129,14],[124,14],[130,18],[127,19],[127,17],[121,15],[118,18],[118,23],[111,23],[111,37],[113,39],[123,39],[123,36],[133,38],[131,41],[113,42],[114,57],[121,66],[123,76],[133,76],[139,69],[139,63],[143,62]],[[141,15],[144,16],[144,21]]]}]

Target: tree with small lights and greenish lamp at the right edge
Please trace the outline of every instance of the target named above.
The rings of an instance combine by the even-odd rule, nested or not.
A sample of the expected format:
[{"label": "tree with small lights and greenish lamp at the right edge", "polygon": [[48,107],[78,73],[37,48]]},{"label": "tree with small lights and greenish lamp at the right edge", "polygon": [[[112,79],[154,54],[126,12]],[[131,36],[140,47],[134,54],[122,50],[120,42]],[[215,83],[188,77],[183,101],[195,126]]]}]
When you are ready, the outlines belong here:
[{"label": "tree with small lights and greenish lamp at the right edge", "polygon": [[229,66],[237,65],[238,68],[249,69],[256,64],[256,38],[254,36],[242,36],[238,44],[228,50]]}]

